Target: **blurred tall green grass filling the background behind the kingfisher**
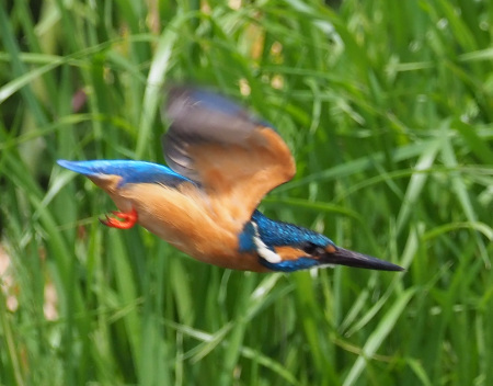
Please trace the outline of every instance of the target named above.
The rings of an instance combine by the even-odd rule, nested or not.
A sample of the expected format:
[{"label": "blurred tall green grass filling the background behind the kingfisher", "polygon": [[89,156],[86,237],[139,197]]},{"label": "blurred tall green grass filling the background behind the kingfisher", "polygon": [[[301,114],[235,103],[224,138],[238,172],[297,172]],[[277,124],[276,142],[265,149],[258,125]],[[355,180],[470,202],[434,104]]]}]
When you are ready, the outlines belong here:
[{"label": "blurred tall green grass filling the background behind the kingfisher", "polygon": [[[1,385],[493,385],[493,3],[0,2]],[[161,87],[278,127],[262,209],[404,265],[186,258],[59,158],[163,162]]]}]

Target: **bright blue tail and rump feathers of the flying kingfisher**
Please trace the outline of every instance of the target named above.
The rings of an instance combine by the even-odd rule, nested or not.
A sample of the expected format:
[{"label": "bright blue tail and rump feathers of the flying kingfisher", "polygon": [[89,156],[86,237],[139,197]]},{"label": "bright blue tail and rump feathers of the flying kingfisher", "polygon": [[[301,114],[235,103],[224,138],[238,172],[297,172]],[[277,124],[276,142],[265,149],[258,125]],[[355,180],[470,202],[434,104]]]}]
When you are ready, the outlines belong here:
[{"label": "bright blue tail and rump feathers of the flying kingfisher", "polygon": [[193,182],[187,178],[175,173],[162,164],[129,161],[129,160],[94,160],[94,161],[67,161],[58,160],[60,167],[81,173],[87,177],[96,178],[101,174],[119,175],[122,181],[118,188],[127,183],[162,183],[167,186],[177,186],[183,182]]}]

